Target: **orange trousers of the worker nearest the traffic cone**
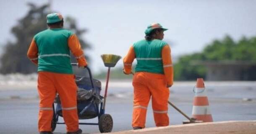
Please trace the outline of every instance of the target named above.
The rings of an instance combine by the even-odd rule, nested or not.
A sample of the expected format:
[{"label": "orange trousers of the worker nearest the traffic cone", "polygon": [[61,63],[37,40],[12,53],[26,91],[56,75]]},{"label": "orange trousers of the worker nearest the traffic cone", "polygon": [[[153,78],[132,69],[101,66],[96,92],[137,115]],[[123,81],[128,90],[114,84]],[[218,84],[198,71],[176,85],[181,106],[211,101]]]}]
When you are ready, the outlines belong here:
[{"label": "orange trousers of the worker nearest the traffic cone", "polygon": [[146,111],[150,97],[156,126],[168,126],[169,88],[165,75],[150,72],[136,72],[133,76],[133,127],[145,128]]}]

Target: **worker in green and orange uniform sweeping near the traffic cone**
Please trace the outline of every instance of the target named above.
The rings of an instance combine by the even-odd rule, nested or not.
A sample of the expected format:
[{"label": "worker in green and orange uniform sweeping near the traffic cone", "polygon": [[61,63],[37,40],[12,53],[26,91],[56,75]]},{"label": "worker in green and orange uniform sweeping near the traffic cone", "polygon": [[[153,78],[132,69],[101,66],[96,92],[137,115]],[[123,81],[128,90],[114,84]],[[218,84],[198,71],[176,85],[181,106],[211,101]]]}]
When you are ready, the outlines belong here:
[{"label": "worker in green and orange uniform sweeping near the traffic cone", "polygon": [[168,126],[169,88],[173,84],[170,46],[162,41],[164,31],[159,23],[152,23],[145,31],[145,39],[134,43],[123,59],[124,73],[131,74],[133,60],[137,59],[133,76],[133,129],[145,128],[146,111],[150,97],[156,126]]}]

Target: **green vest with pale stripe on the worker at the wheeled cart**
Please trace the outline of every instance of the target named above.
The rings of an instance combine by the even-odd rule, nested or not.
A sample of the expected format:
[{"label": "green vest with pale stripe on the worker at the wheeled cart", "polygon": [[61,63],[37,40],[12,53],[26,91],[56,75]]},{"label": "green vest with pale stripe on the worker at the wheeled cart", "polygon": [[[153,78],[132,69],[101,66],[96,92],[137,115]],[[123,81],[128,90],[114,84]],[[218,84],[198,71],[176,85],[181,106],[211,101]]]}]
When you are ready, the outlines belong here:
[{"label": "green vest with pale stripe on the worker at the wheeled cart", "polygon": [[49,28],[34,36],[38,49],[38,72],[73,74],[68,46],[68,39],[72,35],[73,32],[63,28]]}]

